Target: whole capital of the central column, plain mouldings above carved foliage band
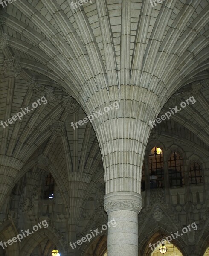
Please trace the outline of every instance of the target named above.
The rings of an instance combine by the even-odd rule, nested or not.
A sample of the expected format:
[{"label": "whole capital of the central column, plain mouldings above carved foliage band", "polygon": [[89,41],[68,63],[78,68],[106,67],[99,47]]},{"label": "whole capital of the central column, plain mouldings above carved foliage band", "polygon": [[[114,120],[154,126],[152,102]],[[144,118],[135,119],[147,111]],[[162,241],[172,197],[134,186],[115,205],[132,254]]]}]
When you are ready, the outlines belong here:
[{"label": "whole capital of the central column, plain mouldings above carved foliage band", "polygon": [[142,209],[142,196],[134,192],[113,192],[104,196],[104,210],[109,214],[112,211],[130,210],[139,212]]}]

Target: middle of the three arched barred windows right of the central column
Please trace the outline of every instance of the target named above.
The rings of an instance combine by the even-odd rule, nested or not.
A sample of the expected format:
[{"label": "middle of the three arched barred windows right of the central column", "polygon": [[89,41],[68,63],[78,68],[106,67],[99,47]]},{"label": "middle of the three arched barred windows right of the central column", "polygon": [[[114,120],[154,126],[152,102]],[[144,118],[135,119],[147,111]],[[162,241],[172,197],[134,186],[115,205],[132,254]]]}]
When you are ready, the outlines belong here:
[{"label": "middle of the three arched barred windows right of the central column", "polygon": [[168,172],[170,187],[182,187],[184,185],[182,157],[174,151],[168,158]]}]

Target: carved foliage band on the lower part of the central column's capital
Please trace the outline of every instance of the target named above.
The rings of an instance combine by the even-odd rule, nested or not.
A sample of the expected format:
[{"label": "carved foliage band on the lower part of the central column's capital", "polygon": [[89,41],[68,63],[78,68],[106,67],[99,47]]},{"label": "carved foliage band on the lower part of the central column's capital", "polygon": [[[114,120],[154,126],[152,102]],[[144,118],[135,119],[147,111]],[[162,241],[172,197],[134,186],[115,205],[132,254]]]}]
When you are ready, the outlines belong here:
[{"label": "carved foliage band on the lower part of the central column's capital", "polygon": [[105,212],[110,212],[111,210],[131,210],[135,212],[140,212],[142,209],[142,204],[137,201],[116,201],[116,202],[108,202],[104,204]]}]

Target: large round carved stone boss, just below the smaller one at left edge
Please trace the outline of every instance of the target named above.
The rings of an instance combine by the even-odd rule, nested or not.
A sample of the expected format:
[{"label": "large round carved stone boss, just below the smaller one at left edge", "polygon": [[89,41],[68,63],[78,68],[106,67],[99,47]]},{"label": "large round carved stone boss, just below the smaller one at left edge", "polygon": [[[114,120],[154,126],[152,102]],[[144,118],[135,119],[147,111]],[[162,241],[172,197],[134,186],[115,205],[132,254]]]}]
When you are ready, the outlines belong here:
[{"label": "large round carved stone boss, just below the smaller one at left edge", "polygon": [[9,77],[17,77],[21,71],[19,61],[20,61],[19,58],[14,56],[11,59],[6,59],[3,62],[4,74]]}]

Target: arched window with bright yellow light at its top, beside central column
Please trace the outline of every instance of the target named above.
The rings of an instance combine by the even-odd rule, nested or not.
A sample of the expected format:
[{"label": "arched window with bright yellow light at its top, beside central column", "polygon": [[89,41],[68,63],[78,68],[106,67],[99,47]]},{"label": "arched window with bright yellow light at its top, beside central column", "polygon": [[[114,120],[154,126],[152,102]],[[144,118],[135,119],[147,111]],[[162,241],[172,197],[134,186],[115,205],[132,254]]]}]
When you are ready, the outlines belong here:
[{"label": "arched window with bright yellow light at its top, beside central column", "polygon": [[149,155],[150,188],[163,188],[163,152],[160,148],[154,147]]}]

